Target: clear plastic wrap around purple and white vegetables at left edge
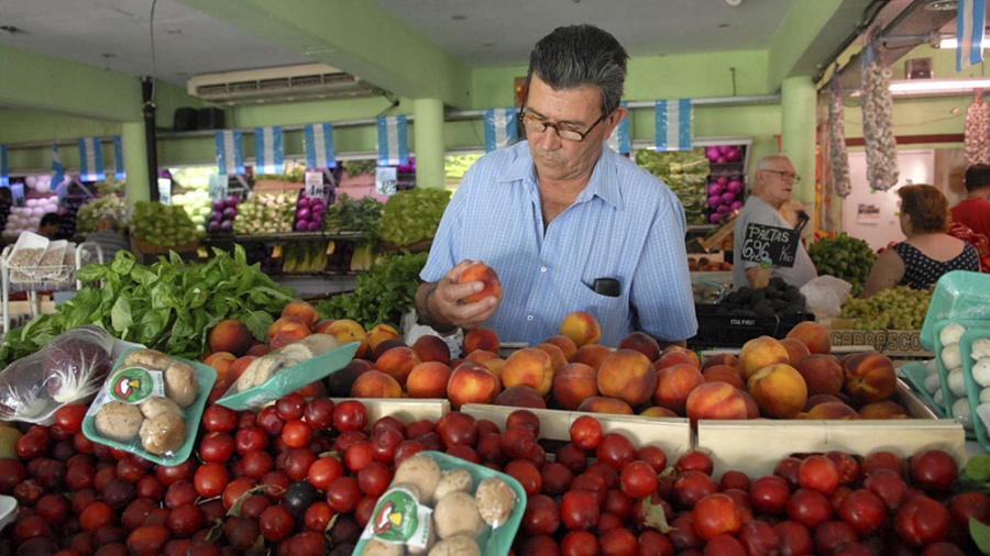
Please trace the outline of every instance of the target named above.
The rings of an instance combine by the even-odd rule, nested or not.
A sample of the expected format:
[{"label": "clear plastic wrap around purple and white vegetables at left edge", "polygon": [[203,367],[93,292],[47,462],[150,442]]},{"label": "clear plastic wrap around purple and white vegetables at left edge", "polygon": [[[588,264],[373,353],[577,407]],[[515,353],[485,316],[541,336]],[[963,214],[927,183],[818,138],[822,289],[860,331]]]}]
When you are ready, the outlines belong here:
[{"label": "clear plastic wrap around purple and white vegetables at left edge", "polygon": [[86,325],[0,370],[0,419],[44,422],[64,403],[91,398],[113,366],[114,340]]}]

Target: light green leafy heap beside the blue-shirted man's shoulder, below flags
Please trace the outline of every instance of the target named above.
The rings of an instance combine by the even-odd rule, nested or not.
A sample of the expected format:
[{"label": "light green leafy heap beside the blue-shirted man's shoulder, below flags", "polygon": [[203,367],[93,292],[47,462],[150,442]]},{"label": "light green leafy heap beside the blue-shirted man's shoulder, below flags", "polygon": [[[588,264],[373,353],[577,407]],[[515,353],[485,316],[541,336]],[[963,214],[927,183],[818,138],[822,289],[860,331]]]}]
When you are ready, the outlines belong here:
[{"label": "light green leafy heap beside the blue-shirted man's shoulder, below flags", "polygon": [[432,238],[449,202],[447,189],[417,187],[395,193],[382,214],[382,240],[406,247]]}]

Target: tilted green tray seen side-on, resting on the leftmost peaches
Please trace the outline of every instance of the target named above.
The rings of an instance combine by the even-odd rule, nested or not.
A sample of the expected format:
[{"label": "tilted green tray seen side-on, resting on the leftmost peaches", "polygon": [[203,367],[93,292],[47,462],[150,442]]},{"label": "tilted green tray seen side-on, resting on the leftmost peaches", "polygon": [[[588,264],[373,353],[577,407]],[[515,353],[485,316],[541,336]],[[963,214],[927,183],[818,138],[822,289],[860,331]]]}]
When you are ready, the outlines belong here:
[{"label": "tilted green tray seen side-on, resting on the leftmost peaches", "polygon": [[265,383],[249,388],[243,392],[228,393],[217,403],[235,411],[257,409],[270,401],[294,392],[306,385],[326,378],[340,370],[354,358],[359,342],[349,342],[337,349],[320,354],[312,359],[293,365],[270,378]]}]

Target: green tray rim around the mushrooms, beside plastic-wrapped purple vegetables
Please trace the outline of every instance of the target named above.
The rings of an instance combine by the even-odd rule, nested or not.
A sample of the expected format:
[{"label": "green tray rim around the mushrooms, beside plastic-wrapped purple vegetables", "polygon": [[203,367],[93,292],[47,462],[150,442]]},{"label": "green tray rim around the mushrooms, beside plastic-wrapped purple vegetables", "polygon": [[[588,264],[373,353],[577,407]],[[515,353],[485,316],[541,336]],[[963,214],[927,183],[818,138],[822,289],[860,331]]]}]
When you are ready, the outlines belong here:
[{"label": "green tray rim around the mushrooms, beside plastic-wrapped purple vegetables", "polygon": [[[121,354],[121,356],[117,359],[117,364],[113,365],[113,370],[111,370],[110,375],[107,376],[108,380],[113,376],[118,367],[120,367],[120,365],[123,363],[124,355],[132,352],[133,349],[136,349],[136,347],[128,349],[127,352]],[[196,399],[193,400],[193,403],[190,403],[189,407],[183,409],[183,415],[186,418],[186,442],[184,442],[183,445],[177,451],[175,451],[175,453],[173,453],[170,457],[158,456],[145,451],[141,446],[141,441],[117,442],[100,436],[100,434],[96,431],[96,425],[94,424],[94,415],[96,414],[96,411],[94,411],[91,407],[86,412],[86,416],[82,418],[82,434],[92,442],[114,448],[120,448],[124,452],[130,452],[131,454],[136,454],[147,459],[148,462],[154,462],[160,465],[179,465],[188,459],[189,455],[193,453],[194,444],[196,443],[196,433],[199,431],[199,421],[200,419],[202,419],[202,409],[206,407],[207,399],[210,397],[210,390],[213,388],[213,382],[217,381],[217,369],[210,367],[209,365],[204,365],[199,362],[183,359],[182,357],[173,357],[173,359],[193,365],[193,368],[196,369],[196,379],[199,381],[199,386],[196,393]]]}]

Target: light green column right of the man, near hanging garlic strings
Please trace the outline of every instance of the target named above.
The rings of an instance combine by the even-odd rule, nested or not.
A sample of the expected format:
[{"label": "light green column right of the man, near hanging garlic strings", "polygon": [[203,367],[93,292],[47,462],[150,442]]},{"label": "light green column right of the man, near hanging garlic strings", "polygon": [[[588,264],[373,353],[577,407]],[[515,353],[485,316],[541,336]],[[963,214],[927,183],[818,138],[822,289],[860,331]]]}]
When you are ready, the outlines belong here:
[{"label": "light green column right of the man, near hanging garlic strings", "polygon": [[789,77],[780,93],[780,130],[783,153],[791,157],[801,184],[792,197],[814,207],[815,202],[815,124],[817,92],[810,77]]}]

